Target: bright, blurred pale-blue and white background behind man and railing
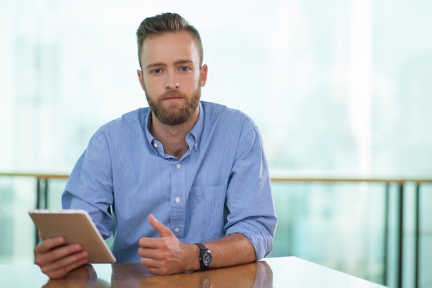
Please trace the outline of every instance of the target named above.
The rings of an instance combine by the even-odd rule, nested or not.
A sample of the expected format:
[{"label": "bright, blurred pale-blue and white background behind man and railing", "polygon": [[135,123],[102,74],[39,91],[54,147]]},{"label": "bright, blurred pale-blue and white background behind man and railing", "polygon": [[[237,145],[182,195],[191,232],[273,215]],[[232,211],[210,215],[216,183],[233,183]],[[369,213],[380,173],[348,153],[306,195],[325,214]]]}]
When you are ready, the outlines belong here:
[{"label": "bright, blurred pale-blue and white background behind man and railing", "polygon": [[[161,12],[199,30],[202,99],[255,120],[273,178],[432,179],[429,0],[0,0],[0,173],[68,175],[99,126],[147,106],[135,31]],[[49,208],[65,183],[50,180]],[[432,287],[432,184],[415,183],[403,283],[400,187],[386,182],[274,181],[271,256]],[[0,177],[0,263],[32,263],[35,202],[33,177]]]}]

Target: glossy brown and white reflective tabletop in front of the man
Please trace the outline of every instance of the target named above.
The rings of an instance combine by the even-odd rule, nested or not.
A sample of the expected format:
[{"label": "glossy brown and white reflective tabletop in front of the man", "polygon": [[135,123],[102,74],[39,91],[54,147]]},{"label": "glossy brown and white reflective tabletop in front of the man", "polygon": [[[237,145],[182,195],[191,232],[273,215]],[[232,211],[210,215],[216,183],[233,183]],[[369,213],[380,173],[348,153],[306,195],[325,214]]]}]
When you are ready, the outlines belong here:
[{"label": "glossy brown and white reflective tabletop in front of the man", "polygon": [[1,287],[206,287],[206,288],[382,288],[372,282],[296,257],[265,258],[260,262],[204,272],[155,276],[139,264],[93,264],[49,280],[36,265],[0,265]]}]

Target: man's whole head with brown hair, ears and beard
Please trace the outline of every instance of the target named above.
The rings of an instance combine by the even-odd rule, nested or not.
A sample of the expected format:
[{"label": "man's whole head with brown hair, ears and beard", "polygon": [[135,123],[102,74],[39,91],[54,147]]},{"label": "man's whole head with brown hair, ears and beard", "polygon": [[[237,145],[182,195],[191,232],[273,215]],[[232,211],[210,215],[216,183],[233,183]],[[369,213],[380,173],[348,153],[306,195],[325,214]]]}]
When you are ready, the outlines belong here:
[{"label": "man's whole head with brown hair, ears and beard", "polygon": [[152,115],[162,124],[192,123],[207,78],[197,30],[177,14],[157,15],[141,23],[137,41],[139,83]]}]

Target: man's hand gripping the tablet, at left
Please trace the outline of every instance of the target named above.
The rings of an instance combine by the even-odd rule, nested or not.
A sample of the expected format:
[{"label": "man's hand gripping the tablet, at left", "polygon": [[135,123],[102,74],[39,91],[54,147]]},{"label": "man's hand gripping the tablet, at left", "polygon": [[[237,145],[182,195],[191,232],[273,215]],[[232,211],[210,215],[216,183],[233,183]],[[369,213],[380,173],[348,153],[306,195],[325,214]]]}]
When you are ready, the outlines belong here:
[{"label": "man's hand gripping the tablet, at left", "polygon": [[35,247],[35,264],[51,279],[63,278],[88,263],[88,251],[81,244],[65,245],[65,241],[64,237],[49,238]]}]

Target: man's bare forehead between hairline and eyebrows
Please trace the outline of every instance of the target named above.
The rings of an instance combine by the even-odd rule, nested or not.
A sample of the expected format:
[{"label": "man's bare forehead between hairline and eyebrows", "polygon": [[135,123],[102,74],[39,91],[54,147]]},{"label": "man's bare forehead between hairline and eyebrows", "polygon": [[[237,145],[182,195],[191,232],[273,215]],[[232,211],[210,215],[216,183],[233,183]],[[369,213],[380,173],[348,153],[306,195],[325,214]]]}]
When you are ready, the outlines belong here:
[{"label": "man's bare forehead between hairline and eyebrows", "polygon": [[143,68],[153,63],[170,64],[178,60],[190,60],[199,65],[199,49],[188,32],[167,32],[144,40],[141,50]]}]

